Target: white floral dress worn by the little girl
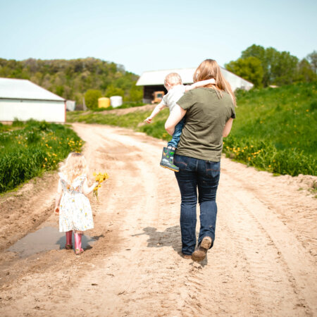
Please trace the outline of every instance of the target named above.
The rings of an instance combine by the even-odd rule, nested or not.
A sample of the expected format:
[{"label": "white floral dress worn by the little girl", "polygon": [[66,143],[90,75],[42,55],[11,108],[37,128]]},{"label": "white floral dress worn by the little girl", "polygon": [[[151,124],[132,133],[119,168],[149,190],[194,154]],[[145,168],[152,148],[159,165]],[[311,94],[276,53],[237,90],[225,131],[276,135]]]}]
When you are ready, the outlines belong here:
[{"label": "white floral dress worn by the little girl", "polygon": [[66,176],[58,173],[61,178],[63,194],[59,210],[59,231],[85,231],[94,228],[92,207],[89,199],[82,193],[82,185],[86,175],[80,175],[69,185]]}]

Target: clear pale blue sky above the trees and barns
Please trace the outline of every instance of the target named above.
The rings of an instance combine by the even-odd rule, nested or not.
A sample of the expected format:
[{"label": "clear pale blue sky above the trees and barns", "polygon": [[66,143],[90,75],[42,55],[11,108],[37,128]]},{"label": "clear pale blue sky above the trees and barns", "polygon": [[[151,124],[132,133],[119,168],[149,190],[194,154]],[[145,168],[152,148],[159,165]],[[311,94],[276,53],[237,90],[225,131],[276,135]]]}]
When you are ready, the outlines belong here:
[{"label": "clear pale blue sky above the trees and barns", "polygon": [[251,44],[317,50],[317,1],[0,0],[0,58],[85,58],[126,70],[223,66]]}]

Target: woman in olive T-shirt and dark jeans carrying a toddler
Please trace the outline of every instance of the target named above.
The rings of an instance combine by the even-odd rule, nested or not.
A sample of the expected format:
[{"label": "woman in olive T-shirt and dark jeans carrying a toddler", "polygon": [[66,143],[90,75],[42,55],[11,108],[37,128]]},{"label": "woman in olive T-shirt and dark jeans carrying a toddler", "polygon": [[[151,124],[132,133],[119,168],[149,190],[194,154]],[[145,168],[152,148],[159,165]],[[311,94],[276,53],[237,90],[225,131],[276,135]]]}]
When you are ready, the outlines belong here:
[{"label": "woman in olive T-shirt and dark jeans carrying a toddler", "polygon": [[[204,260],[213,246],[216,229],[216,192],[220,178],[223,137],[235,118],[235,95],[221,74],[216,61],[206,59],[194,73],[194,82],[214,78],[216,84],[192,89],[177,103],[166,120],[166,131],[173,135],[175,125],[186,115],[186,122],[175,152],[175,173],[180,187],[180,229],[182,254],[194,261]],[[200,230],[196,246],[197,189]]]}]

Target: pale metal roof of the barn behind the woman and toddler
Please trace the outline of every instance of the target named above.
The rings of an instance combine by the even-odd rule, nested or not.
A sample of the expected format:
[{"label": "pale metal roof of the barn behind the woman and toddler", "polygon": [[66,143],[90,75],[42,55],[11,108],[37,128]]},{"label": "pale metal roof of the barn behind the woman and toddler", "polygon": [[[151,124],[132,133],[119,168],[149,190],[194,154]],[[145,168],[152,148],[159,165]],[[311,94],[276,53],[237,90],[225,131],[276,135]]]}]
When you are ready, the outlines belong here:
[{"label": "pale metal roof of the barn behind the woman and toddler", "polygon": [[[237,88],[249,90],[254,86],[251,82],[248,82],[247,80],[244,80],[242,77],[237,76],[234,73],[231,73],[229,70],[226,70],[225,68],[220,69],[225,79],[228,80],[228,82],[230,82],[230,85],[233,90]],[[142,75],[139,77],[139,80],[137,80],[137,86],[163,85],[164,79],[166,75],[168,75],[169,73],[178,73],[182,78],[182,82],[184,84],[192,84],[192,77],[194,76],[195,70],[196,68],[180,68],[147,71],[142,73]]]}]

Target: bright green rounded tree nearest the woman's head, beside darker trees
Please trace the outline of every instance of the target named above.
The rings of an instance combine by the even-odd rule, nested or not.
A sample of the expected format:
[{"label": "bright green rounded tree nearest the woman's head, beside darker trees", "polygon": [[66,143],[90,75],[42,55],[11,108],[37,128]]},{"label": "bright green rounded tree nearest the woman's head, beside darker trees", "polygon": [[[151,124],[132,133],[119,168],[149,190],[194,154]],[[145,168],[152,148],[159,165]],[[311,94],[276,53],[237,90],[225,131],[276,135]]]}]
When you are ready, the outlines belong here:
[{"label": "bright green rounded tree nearest the woman's head, beside darker trees", "polygon": [[225,64],[225,68],[245,80],[249,80],[255,87],[262,87],[263,66],[259,58],[254,56],[238,58],[237,61]]}]

